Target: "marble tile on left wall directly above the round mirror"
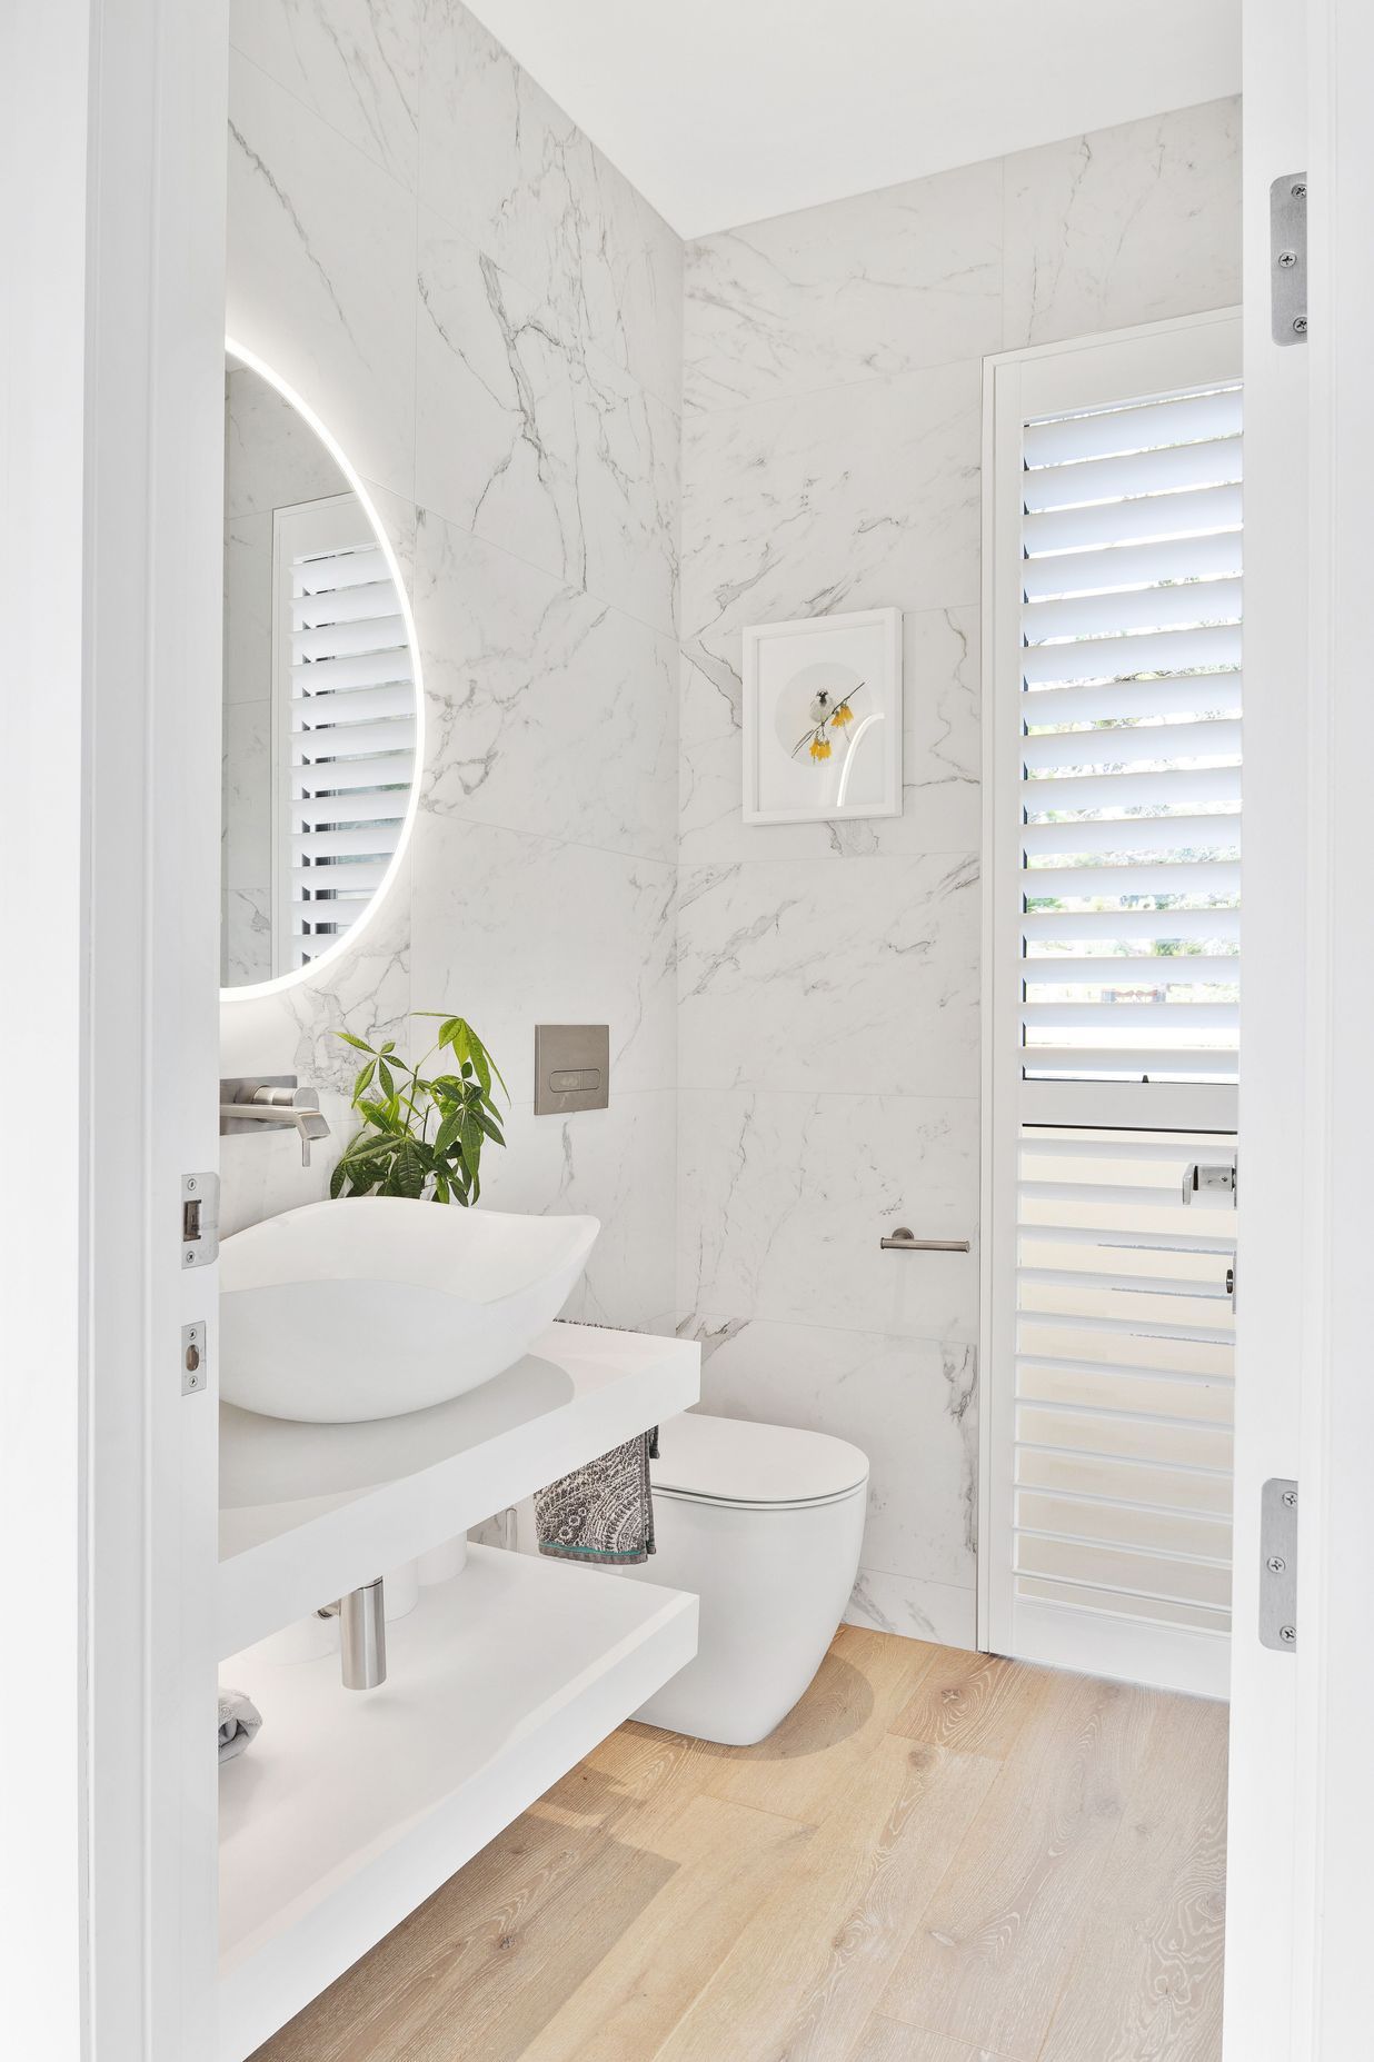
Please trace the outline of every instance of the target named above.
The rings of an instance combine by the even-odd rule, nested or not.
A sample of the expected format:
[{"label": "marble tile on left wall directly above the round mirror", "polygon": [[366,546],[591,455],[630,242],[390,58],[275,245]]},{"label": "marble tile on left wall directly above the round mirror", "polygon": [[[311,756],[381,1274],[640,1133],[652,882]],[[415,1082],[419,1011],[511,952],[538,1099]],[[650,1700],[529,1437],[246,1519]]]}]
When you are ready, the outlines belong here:
[{"label": "marble tile on left wall directly above the round mirror", "polygon": [[229,334],[413,497],[415,196],[233,52],[227,262]]}]

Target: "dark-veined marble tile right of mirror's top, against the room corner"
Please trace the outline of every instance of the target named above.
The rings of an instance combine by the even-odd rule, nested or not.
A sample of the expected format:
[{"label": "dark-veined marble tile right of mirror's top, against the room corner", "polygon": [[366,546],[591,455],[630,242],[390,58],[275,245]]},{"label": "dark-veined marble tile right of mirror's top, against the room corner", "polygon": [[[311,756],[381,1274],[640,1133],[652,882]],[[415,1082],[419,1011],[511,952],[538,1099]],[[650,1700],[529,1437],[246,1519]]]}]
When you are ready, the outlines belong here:
[{"label": "dark-veined marble tile right of mirror's top, against the room corner", "polygon": [[425,212],[417,497],[664,633],[677,627],[677,417]]}]

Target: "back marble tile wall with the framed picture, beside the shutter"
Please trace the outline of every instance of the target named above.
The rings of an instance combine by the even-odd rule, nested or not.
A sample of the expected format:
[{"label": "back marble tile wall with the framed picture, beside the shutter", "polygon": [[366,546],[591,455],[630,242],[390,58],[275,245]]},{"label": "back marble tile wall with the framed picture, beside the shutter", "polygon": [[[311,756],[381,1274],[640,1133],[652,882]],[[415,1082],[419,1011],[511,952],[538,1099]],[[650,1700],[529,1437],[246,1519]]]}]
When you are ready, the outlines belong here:
[{"label": "back marble tile wall with the framed picture, beside the shutter", "polygon": [[[706,1406],[873,1460],[858,1623],[970,1645],[980,359],[1240,299],[1234,101],[687,250],[679,1303]],[[904,610],[906,808],[741,821],[747,623]]]}]

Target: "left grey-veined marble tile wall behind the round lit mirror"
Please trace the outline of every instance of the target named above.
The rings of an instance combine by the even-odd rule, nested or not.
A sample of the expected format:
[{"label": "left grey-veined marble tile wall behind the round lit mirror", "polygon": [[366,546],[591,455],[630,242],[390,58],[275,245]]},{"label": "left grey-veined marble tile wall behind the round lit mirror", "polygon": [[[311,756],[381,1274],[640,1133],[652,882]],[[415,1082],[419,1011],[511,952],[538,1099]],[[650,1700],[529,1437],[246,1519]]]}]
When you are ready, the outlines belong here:
[{"label": "left grey-veined marble tile wall behind the round lit mirror", "polygon": [[[227,1002],[225,1072],[472,1017],[491,1202],[602,1219],[576,1313],[668,1324],[677,1146],[679,239],[458,0],[235,0],[229,332],[318,410],[408,571],[427,695],[402,880],[336,969]],[[609,1021],[609,1111],[532,1116],[536,1021]],[[225,1229],[324,1192],[223,1140]]]}]

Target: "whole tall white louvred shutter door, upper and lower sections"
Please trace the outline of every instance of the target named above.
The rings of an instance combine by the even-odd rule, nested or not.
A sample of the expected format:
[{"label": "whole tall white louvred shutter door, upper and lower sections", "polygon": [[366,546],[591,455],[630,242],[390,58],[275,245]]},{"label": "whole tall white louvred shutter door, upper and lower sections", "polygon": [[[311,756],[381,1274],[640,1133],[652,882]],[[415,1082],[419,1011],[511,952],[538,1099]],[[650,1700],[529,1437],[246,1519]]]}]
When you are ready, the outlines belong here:
[{"label": "whole tall white louvred shutter door, upper and lower sections", "polygon": [[984,1639],[1223,1695],[1242,394],[1234,318],[996,361]]}]

